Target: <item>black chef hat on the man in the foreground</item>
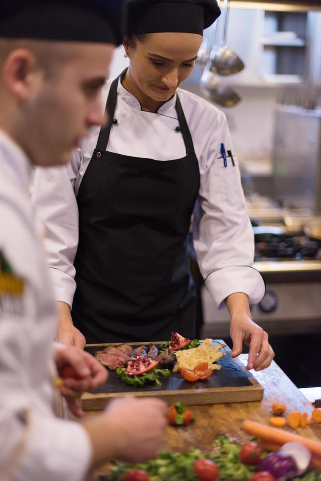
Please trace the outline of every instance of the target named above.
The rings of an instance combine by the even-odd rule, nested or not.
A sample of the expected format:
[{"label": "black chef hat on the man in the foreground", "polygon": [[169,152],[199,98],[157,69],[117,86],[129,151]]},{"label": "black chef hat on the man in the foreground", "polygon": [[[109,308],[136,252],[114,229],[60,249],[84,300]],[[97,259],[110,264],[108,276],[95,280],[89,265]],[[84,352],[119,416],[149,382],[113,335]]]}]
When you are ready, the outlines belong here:
[{"label": "black chef hat on the man in the foreground", "polygon": [[0,37],[123,41],[124,0],[0,0]]}]

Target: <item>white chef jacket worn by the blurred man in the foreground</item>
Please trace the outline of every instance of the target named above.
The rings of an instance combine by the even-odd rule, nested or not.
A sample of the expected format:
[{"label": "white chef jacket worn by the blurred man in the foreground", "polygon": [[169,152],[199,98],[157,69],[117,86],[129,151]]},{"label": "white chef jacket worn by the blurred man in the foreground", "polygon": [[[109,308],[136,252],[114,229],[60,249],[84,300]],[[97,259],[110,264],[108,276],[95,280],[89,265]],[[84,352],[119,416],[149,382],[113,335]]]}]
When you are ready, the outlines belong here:
[{"label": "white chef jacket worn by the blurred man in the foreground", "polygon": [[24,152],[0,132],[0,479],[80,481],[91,447],[80,424],[54,415],[56,311],[30,173]]}]

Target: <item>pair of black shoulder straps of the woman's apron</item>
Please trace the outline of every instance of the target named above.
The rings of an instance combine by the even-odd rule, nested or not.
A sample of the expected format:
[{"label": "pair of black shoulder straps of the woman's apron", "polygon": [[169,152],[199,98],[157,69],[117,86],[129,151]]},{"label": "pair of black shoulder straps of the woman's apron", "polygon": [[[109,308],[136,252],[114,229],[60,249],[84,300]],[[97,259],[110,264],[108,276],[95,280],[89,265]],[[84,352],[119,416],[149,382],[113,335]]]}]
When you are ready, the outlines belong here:
[{"label": "pair of black shoulder straps of the woman's apron", "polygon": [[[119,77],[117,77],[115,80],[113,80],[111,85],[110,85],[110,90],[109,90],[109,93],[108,93],[106,110],[105,110],[107,115],[108,115],[109,121],[108,121],[108,124],[107,124],[106,127],[102,127],[100,129],[100,133],[99,133],[98,140],[97,140],[97,146],[96,146],[96,149],[101,150],[103,152],[105,152],[107,150],[107,144],[108,144],[109,135],[110,135],[111,127],[112,127],[112,120],[114,118],[114,113],[115,113],[116,103],[117,103],[118,82],[119,82],[119,79],[122,77],[123,73],[124,72],[122,72]],[[187,155],[191,155],[191,154],[194,153],[194,144],[193,144],[193,140],[192,140],[191,134],[190,134],[189,129],[188,129],[185,114],[184,114],[182,104],[181,104],[181,101],[180,101],[178,95],[176,96],[175,108],[176,108],[176,112],[177,112],[177,115],[178,115],[178,121],[179,121],[179,124],[180,124],[181,132],[182,132],[185,147],[186,147],[186,153],[187,153]]]}]

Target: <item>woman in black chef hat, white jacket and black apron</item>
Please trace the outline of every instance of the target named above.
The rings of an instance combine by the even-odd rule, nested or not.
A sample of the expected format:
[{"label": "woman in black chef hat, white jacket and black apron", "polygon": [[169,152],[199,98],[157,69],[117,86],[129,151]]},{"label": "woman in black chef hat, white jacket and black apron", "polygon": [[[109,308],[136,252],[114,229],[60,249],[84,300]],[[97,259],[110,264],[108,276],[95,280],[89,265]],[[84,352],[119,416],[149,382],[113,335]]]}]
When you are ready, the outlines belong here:
[{"label": "woman in black chef hat, white jacket and black apron", "polygon": [[249,303],[265,288],[252,267],[253,233],[226,118],[178,88],[219,8],[215,0],[129,0],[128,7],[130,66],[107,84],[111,124],[93,130],[70,168],[39,171],[36,181],[58,339],[155,341],[172,331],[193,339],[187,235],[194,214],[198,264],[214,301],[231,314],[233,356],[245,342],[247,368],[264,369],[274,354]]}]

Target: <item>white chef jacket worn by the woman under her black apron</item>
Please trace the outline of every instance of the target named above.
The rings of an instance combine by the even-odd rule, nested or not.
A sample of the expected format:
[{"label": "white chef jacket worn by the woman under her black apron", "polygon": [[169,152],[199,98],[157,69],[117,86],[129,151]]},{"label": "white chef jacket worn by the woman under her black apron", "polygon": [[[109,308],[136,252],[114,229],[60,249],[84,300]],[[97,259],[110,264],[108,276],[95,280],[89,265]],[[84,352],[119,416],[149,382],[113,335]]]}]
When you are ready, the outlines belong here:
[{"label": "white chef jacket worn by the woman under her black apron", "polygon": [[[112,80],[103,92],[104,108]],[[175,109],[176,95],[156,113],[141,109],[139,101],[118,82],[117,124],[111,129],[107,151],[160,161],[186,156]],[[177,93],[186,116],[196,157],[201,185],[194,209],[193,244],[198,265],[217,306],[233,293],[248,295],[250,303],[259,302],[265,285],[253,268],[254,236],[246,212],[237,157],[221,158],[233,146],[225,114],[206,100],[186,90]],[[78,247],[78,206],[76,195],[96,148],[100,129],[94,128],[72,163],[52,169],[38,169],[32,201],[39,219],[45,223],[49,266],[57,300],[70,306],[75,293],[73,262]],[[164,192],[166,195],[166,192]],[[148,199],[147,199],[148,202]]]}]

